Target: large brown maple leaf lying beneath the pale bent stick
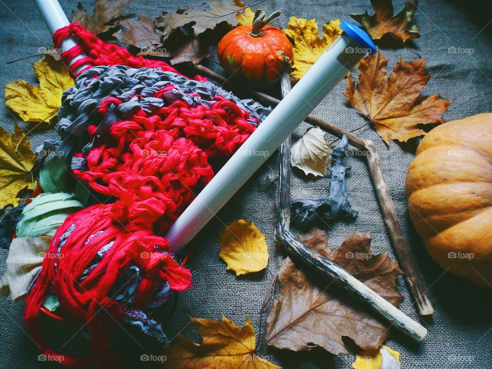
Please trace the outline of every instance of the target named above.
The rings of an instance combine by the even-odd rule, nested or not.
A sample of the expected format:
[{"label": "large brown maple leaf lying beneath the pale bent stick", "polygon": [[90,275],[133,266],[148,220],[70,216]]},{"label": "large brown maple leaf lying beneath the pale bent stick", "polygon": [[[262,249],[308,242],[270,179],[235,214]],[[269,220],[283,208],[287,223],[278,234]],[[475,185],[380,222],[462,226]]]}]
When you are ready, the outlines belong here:
[{"label": "large brown maple leaf lying beneath the pale bent stick", "polygon": [[[316,228],[299,239],[393,305],[399,305],[403,297],[395,281],[402,271],[388,254],[371,253],[369,233],[354,233],[337,250],[329,249],[325,232]],[[308,269],[297,269],[290,258],[280,266],[278,278],[280,299],[274,300],[268,315],[267,344],[292,351],[321,346],[338,355],[347,353],[343,336],[364,349],[378,348],[387,338],[385,322],[332,280]]]}]

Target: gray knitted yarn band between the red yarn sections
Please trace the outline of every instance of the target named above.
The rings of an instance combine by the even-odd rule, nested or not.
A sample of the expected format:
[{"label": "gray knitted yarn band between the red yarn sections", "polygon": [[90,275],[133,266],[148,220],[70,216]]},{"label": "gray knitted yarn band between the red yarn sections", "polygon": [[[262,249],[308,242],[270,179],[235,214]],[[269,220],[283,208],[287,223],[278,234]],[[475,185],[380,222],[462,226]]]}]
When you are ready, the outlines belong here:
[{"label": "gray knitted yarn band between the red yarn sections", "polygon": [[[157,91],[170,84],[176,88],[166,92],[163,98],[154,97]],[[198,96],[190,95],[192,92]],[[115,122],[128,119],[140,108],[152,113],[174,101],[211,108],[216,103],[213,98],[218,95],[247,111],[250,114],[247,121],[254,126],[257,125],[256,119],[264,120],[271,111],[271,108],[263,107],[253,99],[239,99],[209,81],[188,79],[174,72],[122,65],[93,67],[80,74],[75,80],[75,87],[66,90],[61,97],[59,121],[55,128],[61,139],[46,140],[36,151],[55,151],[68,161],[74,151],[87,154],[92,149],[94,141],[87,134],[91,124],[97,125],[96,134],[104,134]],[[124,102],[101,116],[97,111],[101,102],[109,96]],[[72,169],[81,169],[84,163],[83,159],[72,158]]]}]

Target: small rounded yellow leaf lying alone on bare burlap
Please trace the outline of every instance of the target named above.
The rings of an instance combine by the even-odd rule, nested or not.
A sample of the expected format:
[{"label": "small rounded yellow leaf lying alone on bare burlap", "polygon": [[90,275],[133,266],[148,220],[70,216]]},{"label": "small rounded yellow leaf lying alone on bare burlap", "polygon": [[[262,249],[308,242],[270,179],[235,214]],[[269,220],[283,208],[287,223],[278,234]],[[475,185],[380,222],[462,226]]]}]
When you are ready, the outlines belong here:
[{"label": "small rounded yellow leaf lying alone on bare burlap", "polygon": [[220,234],[220,258],[236,275],[258,272],[267,268],[268,247],[265,235],[255,223],[236,220]]}]

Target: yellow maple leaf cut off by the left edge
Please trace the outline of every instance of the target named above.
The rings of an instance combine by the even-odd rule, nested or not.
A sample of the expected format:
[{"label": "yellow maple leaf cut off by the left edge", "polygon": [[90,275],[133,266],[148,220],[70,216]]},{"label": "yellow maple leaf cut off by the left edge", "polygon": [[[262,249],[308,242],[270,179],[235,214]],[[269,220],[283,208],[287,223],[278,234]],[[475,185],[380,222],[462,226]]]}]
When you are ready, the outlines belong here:
[{"label": "yellow maple leaf cut off by the left edge", "polygon": [[35,180],[31,173],[36,155],[24,131],[17,125],[10,135],[0,127],[0,208],[8,204],[17,206],[17,193],[25,188],[34,189]]}]

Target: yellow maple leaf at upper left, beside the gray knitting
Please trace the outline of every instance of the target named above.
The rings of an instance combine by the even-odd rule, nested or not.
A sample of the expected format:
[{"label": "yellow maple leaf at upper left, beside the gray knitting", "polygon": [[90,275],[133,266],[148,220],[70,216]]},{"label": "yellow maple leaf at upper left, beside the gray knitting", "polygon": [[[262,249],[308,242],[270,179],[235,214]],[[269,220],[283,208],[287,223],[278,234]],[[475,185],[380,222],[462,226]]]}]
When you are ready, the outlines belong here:
[{"label": "yellow maple leaf at upper left, beside the gray knitting", "polygon": [[61,94],[75,86],[67,67],[46,55],[33,63],[39,86],[32,86],[24,79],[12,81],[5,86],[5,106],[24,121],[44,122],[48,128],[61,105]]}]

